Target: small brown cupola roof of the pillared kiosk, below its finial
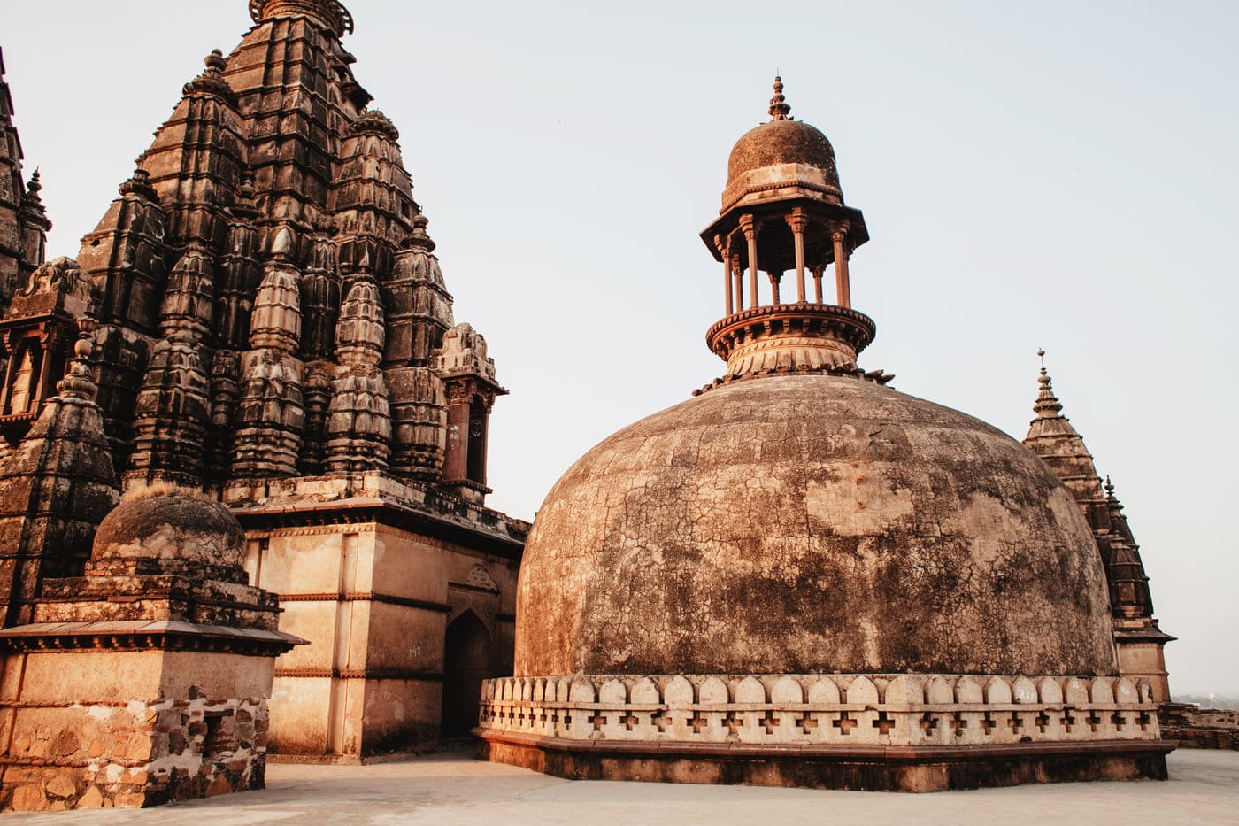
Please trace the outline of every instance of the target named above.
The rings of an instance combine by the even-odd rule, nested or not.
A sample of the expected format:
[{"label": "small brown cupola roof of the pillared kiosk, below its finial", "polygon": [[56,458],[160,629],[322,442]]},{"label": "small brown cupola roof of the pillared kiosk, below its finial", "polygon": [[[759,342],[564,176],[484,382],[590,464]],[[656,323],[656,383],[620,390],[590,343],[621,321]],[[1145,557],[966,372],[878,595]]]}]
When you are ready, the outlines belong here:
[{"label": "small brown cupola roof of the pillared kiosk, below its finial", "polygon": [[776,119],[745,133],[727,159],[724,208],[746,191],[778,185],[809,184],[836,203],[843,202],[835,150],[803,120]]}]

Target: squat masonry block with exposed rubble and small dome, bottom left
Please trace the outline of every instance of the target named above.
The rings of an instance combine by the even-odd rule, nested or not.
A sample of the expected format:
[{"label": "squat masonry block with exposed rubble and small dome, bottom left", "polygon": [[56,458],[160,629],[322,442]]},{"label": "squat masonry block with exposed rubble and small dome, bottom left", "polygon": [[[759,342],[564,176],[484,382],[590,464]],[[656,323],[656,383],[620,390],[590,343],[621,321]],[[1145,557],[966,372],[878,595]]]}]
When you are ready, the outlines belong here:
[{"label": "squat masonry block with exposed rubble and small dome, bottom left", "polygon": [[0,633],[0,806],[155,806],[261,789],[275,594],[244,584],[221,505],[155,495],[99,527],[85,575]]}]

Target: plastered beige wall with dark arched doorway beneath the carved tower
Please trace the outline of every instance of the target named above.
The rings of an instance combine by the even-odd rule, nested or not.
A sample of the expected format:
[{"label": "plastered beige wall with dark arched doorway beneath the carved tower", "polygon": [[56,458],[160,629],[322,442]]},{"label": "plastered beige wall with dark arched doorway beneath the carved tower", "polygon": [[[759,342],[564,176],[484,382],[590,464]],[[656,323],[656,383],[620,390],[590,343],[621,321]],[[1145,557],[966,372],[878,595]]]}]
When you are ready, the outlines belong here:
[{"label": "plastered beige wall with dark arched doorway beneath the carved tower", "polygon": [[[519,556],[377,521],[252,531],[247,546],[250,583],[280,594],[280,630],[311,640],[276,661],[273,754],[432,748],[441,726],[467,734],[483,677],[512,670]],[[475,711],[453,727],[463,703]]]}]

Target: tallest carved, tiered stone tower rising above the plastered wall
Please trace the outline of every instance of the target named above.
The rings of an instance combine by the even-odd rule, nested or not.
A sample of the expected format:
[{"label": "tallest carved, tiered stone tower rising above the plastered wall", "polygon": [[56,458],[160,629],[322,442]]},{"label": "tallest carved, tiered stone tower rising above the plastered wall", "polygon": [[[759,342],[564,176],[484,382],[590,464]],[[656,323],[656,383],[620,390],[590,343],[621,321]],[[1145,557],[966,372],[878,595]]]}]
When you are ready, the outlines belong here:
[{"label": "tallest carved, tiered stone tower rising above the plastered wall", "polygon": [[[156,432],[171,434],[186,417],[155,424],[149,414],[188,404],[176,394],[192,388],[193,432],[178,437],[186,451],[178,463],[196,468],[187,473],[204,489],[227,496],[228,486],[258,490],[259,477],[321,474],[328,443],[356,437],[346,434],[354,424],[346,428],[338,415],[332,430],[330,413],[342,415],[354,403],[369,411],[361,396],[333,398],[344,370],[366,384],[357,393],[382,384],[392,434],[382,449],[367,446],[359,464],[339,458],[337,444],[333,466],[373,470],[383,455],[393,475],[444,485],[445,381],[460,373],[441,373],[436,365],[455,320],[413,197],[400,130],[369,108],[372,98],[353,76],[356,60],[341,43],[352,31],[343,5],[253,0],[249,10],[254,27],[232,52],[207,55],[120,197],[83,239],[82,269],[100,285],[92,367],[116,468],[154,473],[147,463],[155,461],[155,443],[173,448]],[[198,258],[186,258],[191,249]],[[191,260],[209,267],[209,283],[185,282]],[[378,290],[388,325],[377,365],[354,363],[336,349],[343,299],[362,283]],[[177,370],[190,370],[193,381],[170,378],[173,351]],[[357,371],[370,367],[380,375],[362,382]],[[27,372],[37,372],[33,362]],[[478,375],[479,387],[489,389],[475,394],[481,401],[468,415],[458,413],[468,420],[502,391],[486,383],[486,370]],[[140,417],[147,420],[139,439]],[[382,420],[375,413],[375,433],[385,433]],[[481,444],[473,440],[471,460],[478,477]],[[451,481],[455,491],[460,480]]]}]

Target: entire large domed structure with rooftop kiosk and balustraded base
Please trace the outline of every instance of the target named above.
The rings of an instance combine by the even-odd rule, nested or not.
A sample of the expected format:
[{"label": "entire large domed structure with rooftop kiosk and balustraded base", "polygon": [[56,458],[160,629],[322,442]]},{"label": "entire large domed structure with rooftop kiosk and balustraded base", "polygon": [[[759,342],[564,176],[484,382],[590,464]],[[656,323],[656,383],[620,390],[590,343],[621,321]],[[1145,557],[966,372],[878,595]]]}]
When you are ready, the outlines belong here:
[{"label": "entire large domed structure with rooftop kiosk and balustraded base", "polygon": [[726,376],[550,491],[483,753],[570,778],[908,791],[1165,778],[1077,497],[997,429],[856,366],[875,324],[849,257],[869,233],[782,88],[703,233]]}]

